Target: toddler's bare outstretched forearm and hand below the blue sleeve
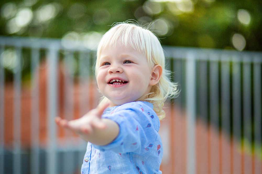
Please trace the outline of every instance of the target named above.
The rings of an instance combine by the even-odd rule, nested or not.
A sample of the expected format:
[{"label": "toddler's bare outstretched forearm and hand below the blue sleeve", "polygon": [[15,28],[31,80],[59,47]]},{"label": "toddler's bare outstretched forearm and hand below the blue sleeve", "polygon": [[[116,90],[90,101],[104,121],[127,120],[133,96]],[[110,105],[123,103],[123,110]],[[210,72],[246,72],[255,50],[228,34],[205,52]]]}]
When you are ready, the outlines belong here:
[{"label": "toddler's bare outstretched forearm and hand below the blue sleeve", "polygon": [[95,145],[107,145],[112,142],[119,133],[119,126],[110,119],[101,119],[103,111],[109,103],[103,104],[90,110],[83,117],[72,121],[67,121],[56,117],[55,121],[63,128],[69,129],[78,134],[85,141]]}]

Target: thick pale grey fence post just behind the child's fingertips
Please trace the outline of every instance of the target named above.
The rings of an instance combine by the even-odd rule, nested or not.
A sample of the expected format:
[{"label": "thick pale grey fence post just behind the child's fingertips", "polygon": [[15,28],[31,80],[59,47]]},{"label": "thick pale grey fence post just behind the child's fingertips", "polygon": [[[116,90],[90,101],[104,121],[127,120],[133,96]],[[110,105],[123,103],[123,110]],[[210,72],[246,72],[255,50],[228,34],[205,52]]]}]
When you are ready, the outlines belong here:
[{"label": "thick pale grey fence post just behind the child's fingertips", "polygon": [[47,96],[47,111],[48,111],[48,133],[47,133],[47,173],[57,173],[57,155],[56,155],[56,125],[54,118],[57,115],[57,61],[58,49],[56,45],[51,45],[48,50],[48,96]]}]

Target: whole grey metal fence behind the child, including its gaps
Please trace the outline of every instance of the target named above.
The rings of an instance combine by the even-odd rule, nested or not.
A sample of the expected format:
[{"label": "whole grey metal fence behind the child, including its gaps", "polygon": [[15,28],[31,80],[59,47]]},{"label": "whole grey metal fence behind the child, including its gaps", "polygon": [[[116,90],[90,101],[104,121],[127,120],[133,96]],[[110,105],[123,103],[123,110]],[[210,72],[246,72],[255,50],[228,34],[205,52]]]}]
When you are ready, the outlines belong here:
[{"label": "whole grey metal fence behind the child, including its gaps", "polygon": [[[181,92],[161,121],[161,171],[262,173],[262,53],[163,49]],[[80,173],[86,142],[54,118],[97,106],[95,51],[74,41],[0,37],[0,174]]]}]

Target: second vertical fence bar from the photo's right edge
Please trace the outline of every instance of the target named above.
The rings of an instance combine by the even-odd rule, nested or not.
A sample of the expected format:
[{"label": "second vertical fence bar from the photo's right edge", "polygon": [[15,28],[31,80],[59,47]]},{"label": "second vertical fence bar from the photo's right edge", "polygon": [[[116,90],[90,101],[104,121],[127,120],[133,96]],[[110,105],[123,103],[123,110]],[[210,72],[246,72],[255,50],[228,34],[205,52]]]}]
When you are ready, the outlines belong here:
[{"label": "second vertical fence bar from the photo's right edge", "polygon": [[[250,57],[245,56],[243,59],[243,130],[244,142],[251,143],[252,123],[251,123],[251,65],[249,62]],[[244,149],[246,148],[244,143]],[[246,152],[243,152],[246,153]],[[244,158],[244,173],[252,173],[247,166],[252,166],[247,158]]]}]

